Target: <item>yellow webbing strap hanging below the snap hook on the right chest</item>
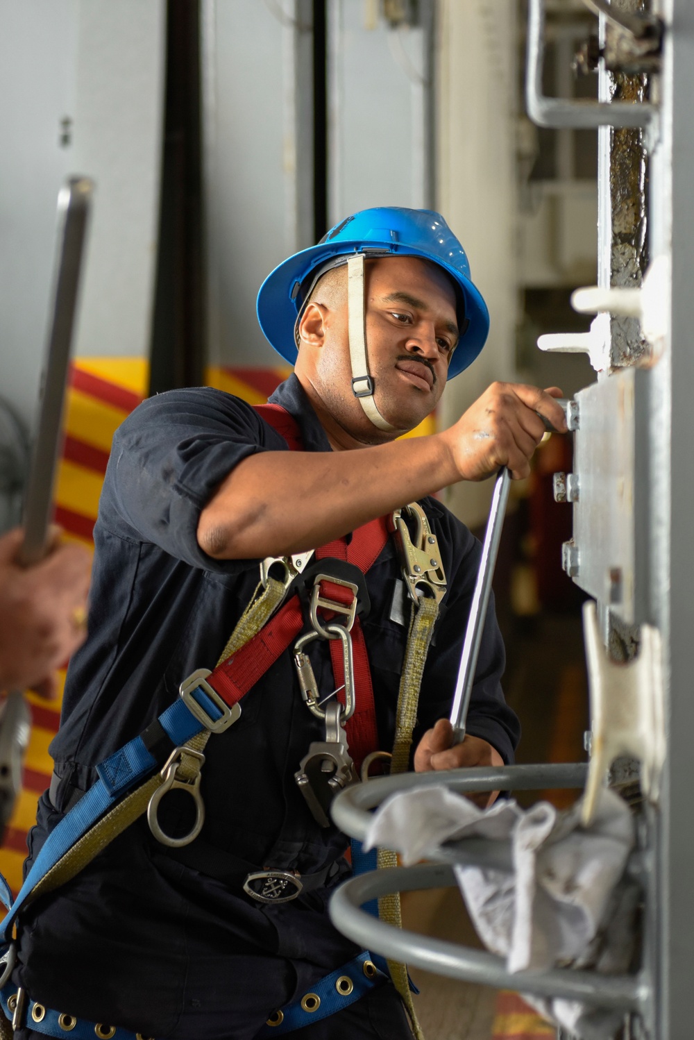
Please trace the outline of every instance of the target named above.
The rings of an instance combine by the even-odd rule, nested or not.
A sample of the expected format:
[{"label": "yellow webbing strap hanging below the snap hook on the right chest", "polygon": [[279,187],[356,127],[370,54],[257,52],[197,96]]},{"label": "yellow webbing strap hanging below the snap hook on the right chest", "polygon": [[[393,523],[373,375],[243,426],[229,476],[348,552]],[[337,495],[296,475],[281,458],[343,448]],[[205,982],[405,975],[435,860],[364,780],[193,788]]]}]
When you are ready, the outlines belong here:
[{"label": "yellow webbing strap hanging below the snap hook on the right chest", "polygon": [[[438,604],[435,599],[421,597],[417,604],[412,603],[412,616],[409,623],[407,646],[405,648],[405,660],[400,677],[391,776],[395,773],[405,773],[409,769],[409,749],[412,746],[412,730],[417,722],[417,708],[420,700],[422,676],[437,616]],[[398,857],[392,849],[378,850],[379,869],[397,865]],[[378,900],[378,916],[388,925],[402,928],[400,892],[391,892],[388,895],[380,896]],[[405,1005],[412,1026],[412,1033],[417,1040],[424,1040],[424,1034],[417,1019],[412,994],[409,989],[407,967],[398,961],[389,961],[388,966],[395,988],[400,993]]]}]

